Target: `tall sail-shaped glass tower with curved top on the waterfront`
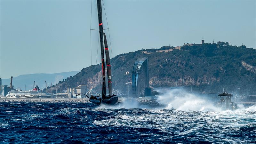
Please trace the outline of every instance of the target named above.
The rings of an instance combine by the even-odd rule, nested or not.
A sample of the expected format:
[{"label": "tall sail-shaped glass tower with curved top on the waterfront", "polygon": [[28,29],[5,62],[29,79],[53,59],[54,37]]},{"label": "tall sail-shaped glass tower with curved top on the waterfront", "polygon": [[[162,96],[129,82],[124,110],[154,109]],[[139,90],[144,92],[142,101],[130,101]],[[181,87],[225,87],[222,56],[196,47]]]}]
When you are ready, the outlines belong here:
[{"label": "tall sail-shaped glass tower with curved top on the waterfront", "polygon": [[148,88],[148,58],[139,58],[132,68],[132,97],[145,96]]}]

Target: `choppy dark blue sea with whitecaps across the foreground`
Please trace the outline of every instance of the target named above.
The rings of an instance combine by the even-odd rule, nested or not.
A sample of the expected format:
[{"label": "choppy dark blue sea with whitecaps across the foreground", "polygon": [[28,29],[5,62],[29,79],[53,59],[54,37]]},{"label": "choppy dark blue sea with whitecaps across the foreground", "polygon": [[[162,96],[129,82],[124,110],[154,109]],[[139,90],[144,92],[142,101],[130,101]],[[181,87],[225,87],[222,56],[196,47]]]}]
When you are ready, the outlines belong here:
[{"label": "choppy dark blue sea with whitecaps across the foreground", "polygon": [[256,107],[188,110],[0,103],[1,143],[256,143]]}]

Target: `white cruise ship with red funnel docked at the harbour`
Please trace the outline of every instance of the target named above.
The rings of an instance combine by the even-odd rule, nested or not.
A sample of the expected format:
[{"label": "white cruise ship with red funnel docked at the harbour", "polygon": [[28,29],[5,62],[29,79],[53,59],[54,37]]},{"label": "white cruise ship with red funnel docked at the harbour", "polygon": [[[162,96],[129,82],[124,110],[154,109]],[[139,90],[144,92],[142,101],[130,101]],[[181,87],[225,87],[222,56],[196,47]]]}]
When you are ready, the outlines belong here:
[{"label": "white cruise ship with red funnel docked at the harbour", "polygon": [[39,86],[36,85],[36,87],[33,90],[30,91],[22,91],[20,89],[12,90],[8,92],[6,95],[6,98],[50,98],[51,93],[45,93],[42,92],[39,89]]}]

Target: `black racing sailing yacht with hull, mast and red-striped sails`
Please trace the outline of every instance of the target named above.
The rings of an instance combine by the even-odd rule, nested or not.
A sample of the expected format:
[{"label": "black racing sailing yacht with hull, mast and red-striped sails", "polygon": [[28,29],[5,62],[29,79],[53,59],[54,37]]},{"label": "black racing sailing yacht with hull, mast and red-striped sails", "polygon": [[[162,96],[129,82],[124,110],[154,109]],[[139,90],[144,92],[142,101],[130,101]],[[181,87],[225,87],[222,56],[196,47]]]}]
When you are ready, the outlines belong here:
[{"label": "black racing sailing yacht with hull, mast and red-striped sails", "polygon": [[[100,32],[100,51],[101,51],[101,66],[102,66],[102,95],[100,96],[91,96],[89,101],[95,104],[109,104],[113,105],[117,102],[118,97],[112,95],[112,79],[111,79],[111,65],[108,52],[108,44],[105,33],[103,32],[103,23],[102,23],[102,7],[101,0],[97,0],[98,8],[98,19],[99,19],[99,32]],[[104,45],[103,45],[103,36],[104,36],[104,45],[105,45],[105,54],[106,54],[106,64],[107,64],[107,77],[108,77],[108,96],[106,95],[106,79],[105,79],[105,59],[104,59]]]}]

